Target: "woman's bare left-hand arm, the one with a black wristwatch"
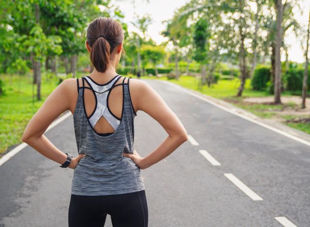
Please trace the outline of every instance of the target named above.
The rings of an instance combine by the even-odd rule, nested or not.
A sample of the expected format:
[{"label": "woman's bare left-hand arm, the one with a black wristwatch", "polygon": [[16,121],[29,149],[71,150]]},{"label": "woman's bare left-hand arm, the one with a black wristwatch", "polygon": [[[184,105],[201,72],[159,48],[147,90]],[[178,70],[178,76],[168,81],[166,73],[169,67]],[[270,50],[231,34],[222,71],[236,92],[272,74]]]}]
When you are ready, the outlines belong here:
[{"label": "woman's bare left-hand arm, the one with a black wristwatch", "polygon": [[[64,111],[69,110],[69,83],[72,79],[66,79],[47,97],[41,108],[32,116],[21,140],[33,147],[45,157],[62,164],[67,155],[54,146],[43,134],[48,126]],[[76,81],[75,79],[73,79]],[[75,85],[76,87],[76,85]],[[68,153],[68,152],[67,152]],[[72,159],[69,168],[75,168],[82,155]]]}]

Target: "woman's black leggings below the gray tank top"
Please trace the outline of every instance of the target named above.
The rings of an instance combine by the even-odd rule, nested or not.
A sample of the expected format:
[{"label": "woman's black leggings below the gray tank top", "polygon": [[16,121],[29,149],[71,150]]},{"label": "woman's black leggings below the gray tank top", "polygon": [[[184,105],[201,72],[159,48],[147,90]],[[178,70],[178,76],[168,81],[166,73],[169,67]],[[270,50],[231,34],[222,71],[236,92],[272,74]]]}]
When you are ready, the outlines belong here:
[{"label": "woman's black leggings below the gray tank top", "polygon": [[145,190],[120,195],[72,195],[69,227],[103,227],[107,214],[113,227],[147,227]]}]

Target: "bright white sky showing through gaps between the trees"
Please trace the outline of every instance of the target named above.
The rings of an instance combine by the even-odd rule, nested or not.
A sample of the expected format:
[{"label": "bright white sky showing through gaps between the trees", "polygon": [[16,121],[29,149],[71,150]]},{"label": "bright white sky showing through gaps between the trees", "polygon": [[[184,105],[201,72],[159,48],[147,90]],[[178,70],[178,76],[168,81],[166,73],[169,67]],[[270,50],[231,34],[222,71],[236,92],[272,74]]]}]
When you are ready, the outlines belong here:
[{"label": "bright white sky showing through gaps between the trees", "polygon": [[[148,27],[148,35],[152,39],[160,44],[166,41],[167,38],[160,35],[161,31],[165,30],[165,23],[163,20],[170,19],[176,9],[185,5],[189,0],[112,0],[111,2],[117,5],[124,14],[124,22],[128,25],[128,32],[139,32],[134,25],[130,22],[134,21],[135,13],[139,16],[149,14],[153,19],[153,23]],[[295,18],[303,26],[307,28],[310,0],[299,0],[303,12],[300,13],[297,9],[294,10]],[[135,4],[133,3],[135,2]],[[287,31],[285,35],[285,43],[289,46],[289,60],[303,63],[305,57],[300,45],[300,37],[296,37],[292,31]],[[304,42],[306,43],[306,41]],[[284,61],[284,53],[282,54],[282,60]]]}]

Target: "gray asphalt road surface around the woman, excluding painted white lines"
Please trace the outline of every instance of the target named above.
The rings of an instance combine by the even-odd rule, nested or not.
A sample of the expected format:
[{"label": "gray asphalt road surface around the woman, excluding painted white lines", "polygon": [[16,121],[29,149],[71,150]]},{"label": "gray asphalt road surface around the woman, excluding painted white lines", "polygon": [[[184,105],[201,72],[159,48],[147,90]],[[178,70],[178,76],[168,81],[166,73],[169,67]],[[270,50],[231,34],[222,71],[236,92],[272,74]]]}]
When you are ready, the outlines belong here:
[{"label": "gray asphalt road surface around the woman, excluding painted white lines", "polygon": [[[187,141],[141,170],[149,227],[281,227],[286,217],[310,226],[310,147],[228,113],[162,81],[147,80],[180,118]],[[45,133],[78,155],[72,115]],[[152,152],[167,136],[149,115],[135,119],[135,149]],[[211,164],[206,150],[220,165]],[[232,173],[263,200],[253,200]],[[66,227],[73,170],[27,146],[0,166],[0,227]],[[105,227],[111,227],[109,215]]]}]

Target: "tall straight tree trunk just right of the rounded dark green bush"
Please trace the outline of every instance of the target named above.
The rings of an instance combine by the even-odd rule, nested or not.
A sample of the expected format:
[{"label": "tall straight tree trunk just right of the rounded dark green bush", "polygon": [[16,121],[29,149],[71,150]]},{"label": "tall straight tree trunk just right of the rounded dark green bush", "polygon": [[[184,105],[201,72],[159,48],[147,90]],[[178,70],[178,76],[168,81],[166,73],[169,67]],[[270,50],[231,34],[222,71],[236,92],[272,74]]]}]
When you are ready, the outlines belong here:
[{"label": "tall straight tree trunk just right of the rounded dark green bush", "polygon": [[281,54],[280,48],[282,44],[282,17],[283,5],[282,0],[276,1],[277,17],[276,17],[276,48],[275,48],[275,104],[281,103]]}]

